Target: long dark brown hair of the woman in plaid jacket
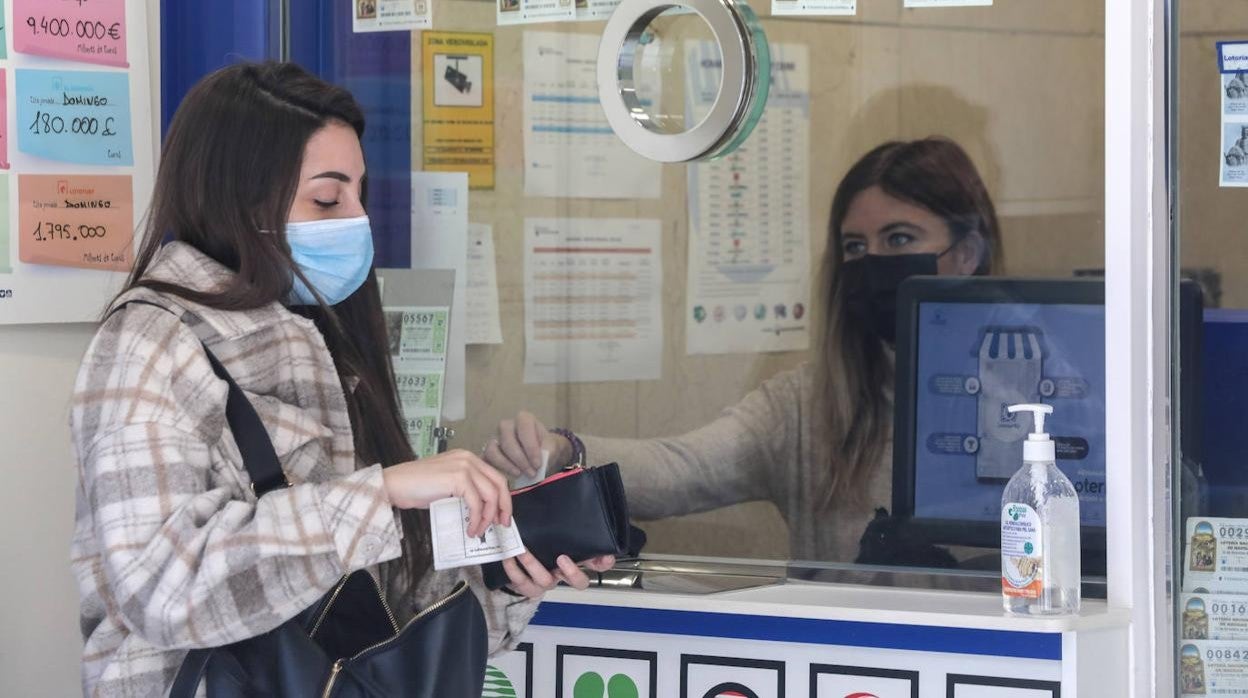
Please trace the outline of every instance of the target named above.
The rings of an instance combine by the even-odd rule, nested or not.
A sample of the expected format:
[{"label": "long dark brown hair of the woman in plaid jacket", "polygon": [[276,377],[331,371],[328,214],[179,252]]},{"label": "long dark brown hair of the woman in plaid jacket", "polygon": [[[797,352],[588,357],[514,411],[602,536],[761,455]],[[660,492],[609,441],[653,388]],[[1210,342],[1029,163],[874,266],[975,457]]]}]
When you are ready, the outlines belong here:
[{"label": "long dark brown hair of the woman in plaid jacket", "polygon": [[[364,115],[351,92],[295,64],[240,62],[196,84],[165,136],[142,246],[126,290],[142,286],[227,311],[286,298],[295,276],[302,278],[282,231],[298,189],[303,149],[332,122],[363,137]],[[191,245],[235,275],[211,292],[145,278],[166,238]],[[314,321],[324,336],[347,396],[359,458],[383,466],[413,460],[373,271],[333,307],[321,302],[291,310]],[[416,582],[429,568],[428,516],[411,509],[402,519],[404,554],[389,572],[411,574],[408,581]]]}]

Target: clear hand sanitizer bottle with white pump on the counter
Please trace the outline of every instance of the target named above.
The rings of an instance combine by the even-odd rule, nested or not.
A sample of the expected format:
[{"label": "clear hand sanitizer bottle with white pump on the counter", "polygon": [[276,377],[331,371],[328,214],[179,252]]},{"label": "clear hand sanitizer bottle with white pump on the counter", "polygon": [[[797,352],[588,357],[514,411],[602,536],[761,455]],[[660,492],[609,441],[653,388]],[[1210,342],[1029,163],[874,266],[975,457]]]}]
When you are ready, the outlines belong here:
[{"label": "clear hand sanitizer bottle with white pump on the counter", "polygon": [[1035,432],[1022,446],[1022,468],[1001,497],[1001,593],[1007,613],[1050,616],[1080,611],[1080,498],[1057,469],[1045,433],[1048,405],[1012,405],[1031,412]]}]

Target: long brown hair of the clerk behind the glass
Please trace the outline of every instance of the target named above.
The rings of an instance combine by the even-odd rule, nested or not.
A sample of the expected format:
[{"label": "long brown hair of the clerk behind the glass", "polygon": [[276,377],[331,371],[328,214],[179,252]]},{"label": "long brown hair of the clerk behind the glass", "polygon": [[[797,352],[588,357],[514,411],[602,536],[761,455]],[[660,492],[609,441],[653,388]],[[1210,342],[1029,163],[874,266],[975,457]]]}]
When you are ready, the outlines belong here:
[{"label": "long brown hair of the clerk behind the glass", "polygon": [[892,355],[882,341],[845,312],[841,285],[841,225],[854,199],[874,186],[894,199],[940,216],[953,245],[978,246],[976,275],[1001,267],[1001,230],[988,190],[961,146],[929,137],[886,142],[859,160],[832,197],[824,252],[824,316],[815,363],[816,423],[827,446],[822,504],[846,497],[861,501],[871,471],[880,466],[892,435]]}]

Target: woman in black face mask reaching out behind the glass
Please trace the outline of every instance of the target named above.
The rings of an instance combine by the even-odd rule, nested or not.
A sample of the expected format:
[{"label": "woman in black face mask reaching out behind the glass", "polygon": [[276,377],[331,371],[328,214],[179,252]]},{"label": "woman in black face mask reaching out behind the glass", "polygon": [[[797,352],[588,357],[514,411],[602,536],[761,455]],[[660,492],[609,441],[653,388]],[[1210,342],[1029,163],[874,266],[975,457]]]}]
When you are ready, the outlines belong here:
[{"label": "woman in black face mask reaching out behind the glass", "polygon": [[992,200],[957,144],[880,145],[832,200],[809,362],[684,435],[577,437],[520,412],[498,426],[485,460],[510,474],[534,472],[542,451],[553,462],[617,462],[643,521],[770,501],[789,524],[791,558],[854,562],[876,509],[891,506],[897,287],[1000,263]]}]

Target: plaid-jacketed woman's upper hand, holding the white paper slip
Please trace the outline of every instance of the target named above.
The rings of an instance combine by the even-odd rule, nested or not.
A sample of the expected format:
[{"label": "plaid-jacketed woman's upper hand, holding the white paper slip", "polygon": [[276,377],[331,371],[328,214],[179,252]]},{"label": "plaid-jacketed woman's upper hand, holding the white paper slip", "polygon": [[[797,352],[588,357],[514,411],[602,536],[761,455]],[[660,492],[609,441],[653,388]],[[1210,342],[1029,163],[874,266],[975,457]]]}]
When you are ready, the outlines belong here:
[{"label": "plaid-jacketed woman's upper hand, holding the white paper slip", "polygon": [[512,493],[507,478],[474,453],[447,451],[419,461],[382,468],[391,504],[427,509],[447,497],[468,504],[468,537],[483,536],[493,523],[512,524]]}]

